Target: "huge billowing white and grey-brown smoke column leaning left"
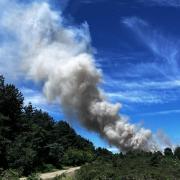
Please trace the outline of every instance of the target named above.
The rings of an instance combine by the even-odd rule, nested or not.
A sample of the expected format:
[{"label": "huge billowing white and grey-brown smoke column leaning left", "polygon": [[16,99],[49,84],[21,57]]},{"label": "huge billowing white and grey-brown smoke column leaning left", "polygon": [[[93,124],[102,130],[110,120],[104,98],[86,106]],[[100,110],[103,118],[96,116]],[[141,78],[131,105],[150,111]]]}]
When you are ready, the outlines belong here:
[{"label": "huge billowing white and grey-brown smoke column leaning left", "polygon": [[65,25],[62,15],[46,2],[14,3],[0,20],[1,28],[19,44],[21,70],[43,84],[49,100],[58,100],[66,114],[122,151],[154,150],[151,131],[121,117],[120,104],[107,102],[98,88],[102,74],[95,66],[86,23]]}]

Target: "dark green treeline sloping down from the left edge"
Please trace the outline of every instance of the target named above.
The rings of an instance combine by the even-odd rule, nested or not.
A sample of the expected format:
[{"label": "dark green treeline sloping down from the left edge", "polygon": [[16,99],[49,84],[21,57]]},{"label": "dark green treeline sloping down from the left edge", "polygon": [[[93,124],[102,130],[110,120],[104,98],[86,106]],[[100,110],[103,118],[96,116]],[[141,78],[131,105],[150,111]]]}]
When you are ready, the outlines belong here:
[{"label": "dark green treeline sloping down from the left edge", "polygon": [[0,174],[19,175],[81,165],[95,158],[91,142],[63,121],[29,104],[22,93],[0,76]]}]

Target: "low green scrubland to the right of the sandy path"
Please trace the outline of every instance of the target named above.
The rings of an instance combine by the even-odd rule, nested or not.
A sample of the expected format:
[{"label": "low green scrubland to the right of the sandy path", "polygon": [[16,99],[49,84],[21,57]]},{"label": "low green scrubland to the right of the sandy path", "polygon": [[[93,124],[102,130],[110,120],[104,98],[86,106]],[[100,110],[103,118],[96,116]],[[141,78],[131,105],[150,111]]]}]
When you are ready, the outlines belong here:
[{"label": "low green scrubland to the right of the sandy path", "polygon": [[[106,150],[105,150],[106,151]],[[132,151],[102,153],[76,173],[76,180],[176,180],[180,179],[180,148],[172,153]]]}]

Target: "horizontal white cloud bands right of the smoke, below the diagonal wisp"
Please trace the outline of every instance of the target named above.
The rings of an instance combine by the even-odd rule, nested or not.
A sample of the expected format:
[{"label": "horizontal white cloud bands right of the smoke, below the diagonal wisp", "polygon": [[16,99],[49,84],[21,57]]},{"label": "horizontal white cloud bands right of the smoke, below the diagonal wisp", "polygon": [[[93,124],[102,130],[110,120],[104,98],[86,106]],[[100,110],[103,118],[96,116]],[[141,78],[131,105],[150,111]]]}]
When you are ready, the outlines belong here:
[{"label": "horizontal white cloud bands right of the smoke, below the diagonal wisp", "polygon": [[136,79],[133,81],[106,77],[108,98],[123,104],[164,104],[175,102],[180,96],[180,80],[155,81]]}]

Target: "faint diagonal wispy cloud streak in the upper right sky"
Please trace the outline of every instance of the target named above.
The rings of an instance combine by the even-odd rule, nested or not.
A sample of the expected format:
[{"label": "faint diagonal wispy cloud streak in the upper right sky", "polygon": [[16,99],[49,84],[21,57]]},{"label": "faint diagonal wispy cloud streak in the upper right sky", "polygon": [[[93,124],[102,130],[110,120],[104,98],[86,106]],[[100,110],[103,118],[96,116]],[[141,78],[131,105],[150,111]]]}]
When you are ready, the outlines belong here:
[{"label": "faint diagonal wispy cloud streak in the upper right sky", "polygon": [[[164,76],[179,74],[179,41],[174,38],[165,37],[161,32],[151,27],[146,21],[130,17],[125,18],[123,23],[130,28],[137,38],[139,38],[155,55],[154,62],[161,64],[158,69]],[[168,73],[163,70],[169,71]]]}]

